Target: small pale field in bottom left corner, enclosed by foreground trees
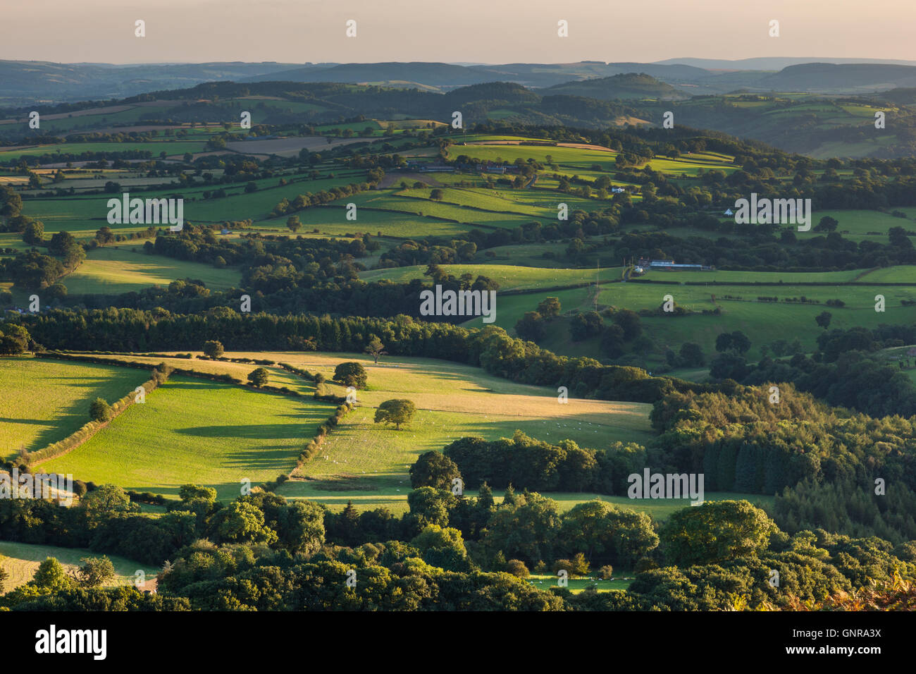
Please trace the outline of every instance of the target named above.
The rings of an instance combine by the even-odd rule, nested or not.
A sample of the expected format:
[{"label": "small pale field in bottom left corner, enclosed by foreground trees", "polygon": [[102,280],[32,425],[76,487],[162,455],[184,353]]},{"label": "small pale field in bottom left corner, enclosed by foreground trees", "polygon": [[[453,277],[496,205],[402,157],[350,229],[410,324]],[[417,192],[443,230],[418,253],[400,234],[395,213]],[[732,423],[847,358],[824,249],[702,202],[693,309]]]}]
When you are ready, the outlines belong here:
[{"label": "small pale field in bottom left corner, enclosed by foreground trees", "polygon": [[103,556],[111,559],[114,564],[115,576],[107,583],[109,586],[135,585],[136,576],[134,574],[137,570],[142,570],[146,574],[146,587],[149,587],[149,583],[155,583],[156,574],[160,570],[117,555],[104,555],[104,553],[80,547],[38,546],[30,543],[0,541],[0,568],[5,569],[9,574],[5,583],[7,592],[32,580],[35,571],[38,570],[38,565],[49,557],[57,559],[64,569],[71,571],[82,566],[82,561],[80,561],[82,558]]}]

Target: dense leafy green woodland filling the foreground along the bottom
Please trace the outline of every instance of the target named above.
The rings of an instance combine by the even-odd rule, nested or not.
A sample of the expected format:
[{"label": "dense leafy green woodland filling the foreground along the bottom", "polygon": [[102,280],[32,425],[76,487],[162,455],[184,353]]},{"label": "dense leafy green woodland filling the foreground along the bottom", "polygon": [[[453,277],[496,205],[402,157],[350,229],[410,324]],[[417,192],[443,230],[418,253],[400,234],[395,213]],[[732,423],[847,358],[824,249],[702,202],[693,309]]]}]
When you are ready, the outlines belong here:
[{"label": "dense leafy green woodland filling the foreground along the bottom", "polygon": [[[747,502],[687,508],[658,531],[645,514],[606,503],[561,515],[534,492],[507,492],[496,506],[487,490],[464,499],[423,487],[409,504],[398,521],[384,508],[359,514],[349,506],[334,515],[269,492],[223,505],[215,491],[186,485],[169,514],[150,520],[111,485],[70,509],[4,501],[6,540],[66,541],[169,563],[156,596],[45,573],[0,603],[26,611],[791,609],[829,605],[871,580],[900,601],[908,590],[893,580],[916,572],[912,543],[893,547],[823,529],[790,536]],[[522,580],[529,569],[576,573],[596,565],[641,572],[627,592],[603,594],[541,591]],[[774,568],[779,589],[768,582]],[[352,589],[344,580],[354,570]]]}]

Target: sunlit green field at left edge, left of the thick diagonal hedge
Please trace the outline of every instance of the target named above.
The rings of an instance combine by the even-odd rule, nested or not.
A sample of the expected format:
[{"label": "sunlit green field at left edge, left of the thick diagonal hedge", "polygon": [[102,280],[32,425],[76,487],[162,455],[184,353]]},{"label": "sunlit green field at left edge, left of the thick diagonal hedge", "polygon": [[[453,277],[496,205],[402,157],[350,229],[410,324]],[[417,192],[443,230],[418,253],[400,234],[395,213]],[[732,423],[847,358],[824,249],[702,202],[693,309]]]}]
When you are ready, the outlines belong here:
[{"label": "sunlit green field at left edge, left of the thick diagonal hedge", "polygon": [[0,359],[0,456],[13,457],[58,442],[90,421],[89,403],[124,397],[144,381],[144,370],[92,363]]}]

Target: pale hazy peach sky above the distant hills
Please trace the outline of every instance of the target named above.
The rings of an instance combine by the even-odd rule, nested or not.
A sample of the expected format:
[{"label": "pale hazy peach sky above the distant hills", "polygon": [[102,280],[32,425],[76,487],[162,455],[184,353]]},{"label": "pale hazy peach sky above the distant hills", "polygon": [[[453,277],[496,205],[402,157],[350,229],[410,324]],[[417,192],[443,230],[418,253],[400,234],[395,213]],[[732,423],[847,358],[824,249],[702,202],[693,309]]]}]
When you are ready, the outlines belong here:
[{"label": "pale hazy peach sky above the distant hills", "polygon": [[[346,38],[351,18],[357,35]],[[146,38],[134,37],[136,19]],[[916,60],[914,24],[916,0],[3,0],[0,59]]]}]

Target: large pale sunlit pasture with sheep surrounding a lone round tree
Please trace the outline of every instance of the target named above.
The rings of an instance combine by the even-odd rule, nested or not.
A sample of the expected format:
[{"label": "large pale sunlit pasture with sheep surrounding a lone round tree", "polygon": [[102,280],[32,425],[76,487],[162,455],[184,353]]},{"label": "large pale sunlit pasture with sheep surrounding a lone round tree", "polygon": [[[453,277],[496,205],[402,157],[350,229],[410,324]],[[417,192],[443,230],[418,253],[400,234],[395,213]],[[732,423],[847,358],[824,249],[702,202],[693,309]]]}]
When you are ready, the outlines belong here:
[{"label": "large pale sunlit pasture with sheep surrounding a lone round tree", "polygon": [[[369,388],[357,393],[359,406],[334,429],[319,455],[293,473],[279,493],[325,503],[365,496],[387,503],[410,490],[408,469],[420,453],[442,449],[463,436],[496,439],[518,429],[546,441],[571,438],[583,447],[616,441],[646,442],[649,408],[643,403],[557,401],[551,389],[527,386],[475,368],[431,359],[370,360],[345,354],[289,354],[293,365],[330,376],[344,359],[362,361]],[[343,394],[341,391],[338,394]],[[373,422],[376,406],[408,398],[418,408],[409,426],[397,431]]]}]

